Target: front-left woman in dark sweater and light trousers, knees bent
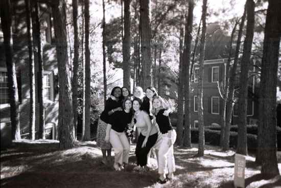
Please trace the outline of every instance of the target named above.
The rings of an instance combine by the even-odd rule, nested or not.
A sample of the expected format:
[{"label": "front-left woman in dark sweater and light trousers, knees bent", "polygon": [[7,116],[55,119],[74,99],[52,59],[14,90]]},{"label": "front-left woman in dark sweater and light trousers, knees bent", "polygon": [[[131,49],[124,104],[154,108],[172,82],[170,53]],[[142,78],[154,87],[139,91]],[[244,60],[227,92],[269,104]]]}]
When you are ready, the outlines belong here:
[{"label": "front-left woman in dark sweater and light trousers, knees bent", "polygon": [[120,171],[128,164],[130,144],[124,133],[126,126],[132,120],[132,101],[129,97],[123,102],[123,110],[111,115],[108,120],[105,141],[110,142],[115,153],[114,169]]}]

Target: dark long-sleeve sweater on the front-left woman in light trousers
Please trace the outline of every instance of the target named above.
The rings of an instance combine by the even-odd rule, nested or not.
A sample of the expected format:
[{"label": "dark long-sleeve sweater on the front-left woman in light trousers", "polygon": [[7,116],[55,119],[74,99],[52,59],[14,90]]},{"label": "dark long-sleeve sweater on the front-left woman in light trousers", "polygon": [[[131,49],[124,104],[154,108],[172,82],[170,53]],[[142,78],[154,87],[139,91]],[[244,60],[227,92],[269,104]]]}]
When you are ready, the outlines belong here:
[{"label": "dark long-sleeve sweater on the front-left woman in light trousers", "polygon": [[133,113],[131,111],[129,113],[125,112],[124,110],[116,111],[110,116],[108,123],[111,124],[111,129],[122,133],[127,124],[131,122],[132,117]]}]

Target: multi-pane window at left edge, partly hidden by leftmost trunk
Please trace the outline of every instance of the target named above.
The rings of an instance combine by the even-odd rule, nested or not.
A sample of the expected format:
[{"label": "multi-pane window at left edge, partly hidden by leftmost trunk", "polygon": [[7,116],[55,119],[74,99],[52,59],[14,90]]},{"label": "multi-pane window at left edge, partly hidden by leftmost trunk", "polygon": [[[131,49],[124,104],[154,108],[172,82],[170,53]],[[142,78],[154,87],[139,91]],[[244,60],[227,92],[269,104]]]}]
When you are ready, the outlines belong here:
[{"label": "multi-pane window at left edge, partly hidden by leftmost trunk", "polygon": [[[16,72],[18,101],[21,102],[21,80],[20,72]],[[9,85],[8,85],[8,73],[6,68],[0,70],[0,105],[9,104]]]}]

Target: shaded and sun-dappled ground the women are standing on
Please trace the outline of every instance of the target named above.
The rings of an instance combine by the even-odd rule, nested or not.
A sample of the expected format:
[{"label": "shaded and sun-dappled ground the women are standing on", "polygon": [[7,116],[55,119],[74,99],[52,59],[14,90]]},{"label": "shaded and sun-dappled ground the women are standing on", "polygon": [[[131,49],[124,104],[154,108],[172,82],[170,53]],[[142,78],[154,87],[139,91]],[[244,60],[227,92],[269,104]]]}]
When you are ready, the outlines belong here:
[{"label": "shaded and sun-dappled ground the women are standing on", "polygon": [[[95,141],[78,142],[70,150],[58,150],[55,140],[14,141],[1,150],[1,187],[234,187],[235,152],[221,152],[205,145],[205,156],[195,157],[192,149],[174,148],[175,179],[166,184],[156,180],[157,162],[151,160],[149,172],[135,168],[135,145],[131,145],[128,167],[117,172],[101,163],[101,151]],[[112,156],[114,155],[112,151]],[[113,157],[112,157],[113,160]],[[278,159],[281,172],[281,159]],[[264,180],[254,158],[246,157],[246,187],[281,187],[281,177]]]}]

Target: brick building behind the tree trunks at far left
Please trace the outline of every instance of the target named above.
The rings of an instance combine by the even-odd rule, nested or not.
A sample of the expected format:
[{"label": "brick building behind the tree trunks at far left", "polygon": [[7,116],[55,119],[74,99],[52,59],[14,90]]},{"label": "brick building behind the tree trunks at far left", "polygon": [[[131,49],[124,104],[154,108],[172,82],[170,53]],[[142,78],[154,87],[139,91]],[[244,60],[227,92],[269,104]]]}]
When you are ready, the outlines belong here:
[{"label": "brick building behind the tree trunks at far left", "polygon": [[[13,60],[17,72],[17,84],[19,94],[20,109],[20,132],[22,137],[29,133],[29,108],[30,108],[30,83],[29,83],[29,54],[28,38],[26,26],[25,1],[12,1],[12,32],[13,32]],[[51,8],[45,4],[40,4],[40,30],[43,47],[43,86],[44,86],[44,107],[45,107],[45,127],[58,124],[58,69],[55,48],[55,35],[52,25]],[[1,25],[0,25],[1,27]],[[33,38],[34,39],[34,38]],[[39,127],[39,103],[37,92],[38,63],[35,59],[35,95],[36,95],[36,131]],[[1,124],[10,122],[10,104],[8,91],[8,77],[5,60],[4,38],[0,28],[0,117]],[[1,125],[2,129],[2,125]],[[56,137],[53,134],[46,135],[46,138]]]}]

